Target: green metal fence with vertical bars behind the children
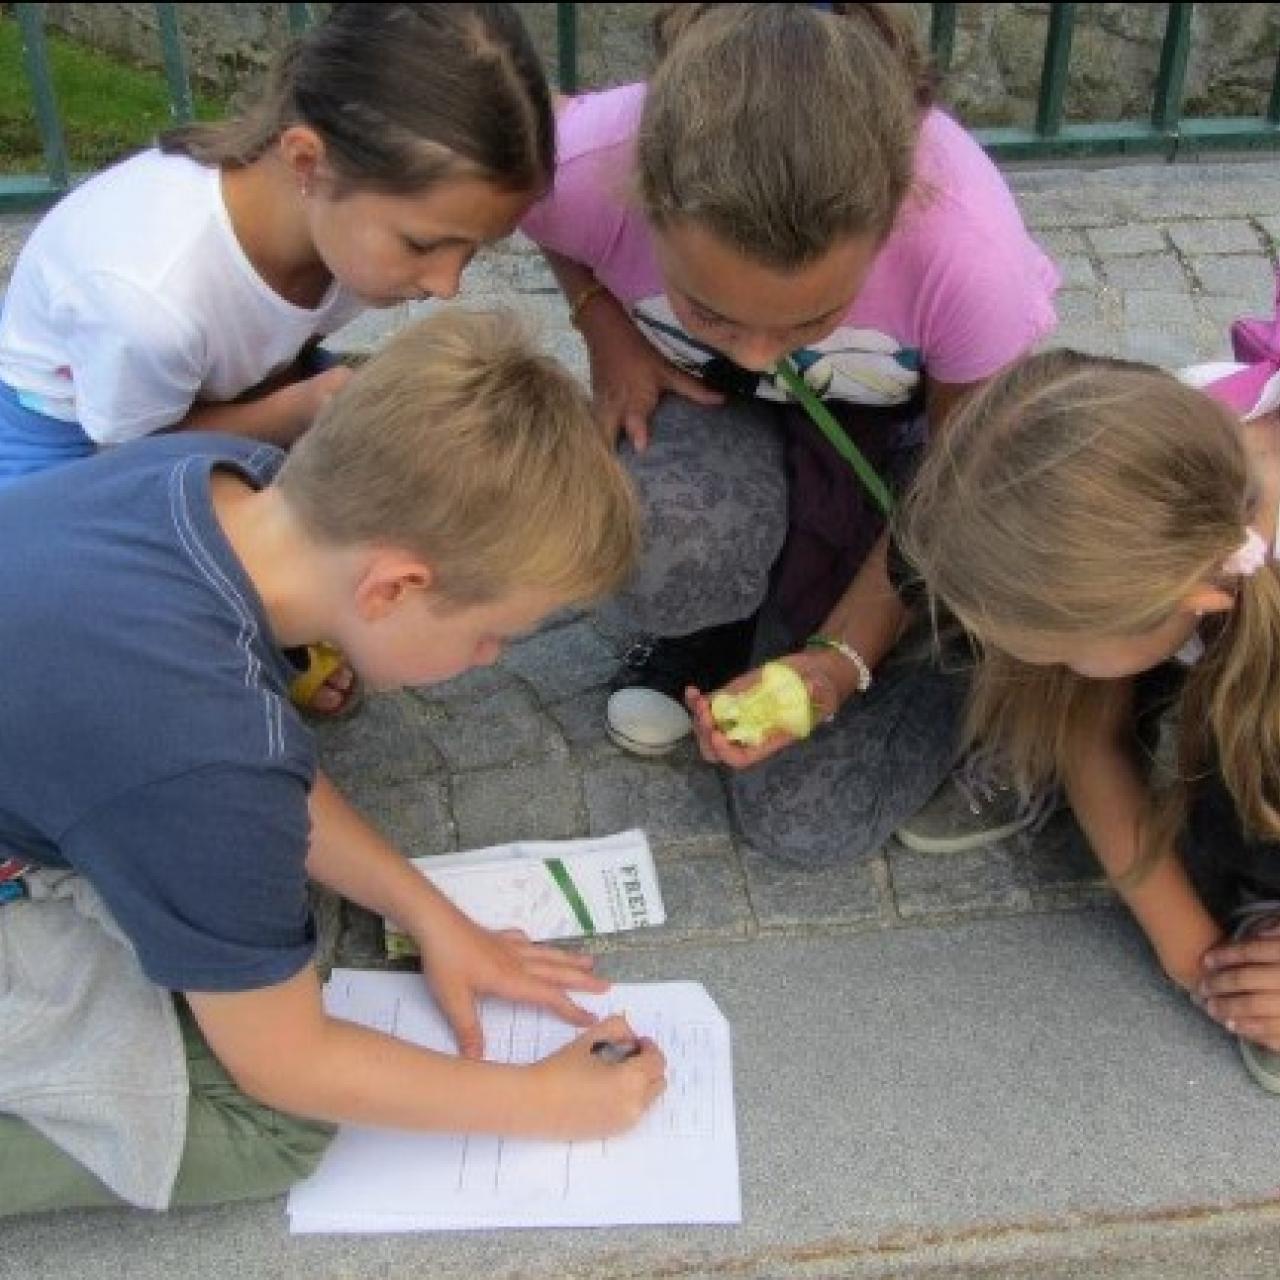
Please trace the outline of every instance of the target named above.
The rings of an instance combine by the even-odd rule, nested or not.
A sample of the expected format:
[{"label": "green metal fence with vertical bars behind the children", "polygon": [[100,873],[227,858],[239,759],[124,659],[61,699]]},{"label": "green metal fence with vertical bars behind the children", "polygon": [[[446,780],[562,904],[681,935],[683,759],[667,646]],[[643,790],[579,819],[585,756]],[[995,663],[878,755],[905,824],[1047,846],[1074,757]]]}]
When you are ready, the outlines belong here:
[{"label": "green metal fence with vertical bars behind the children", "polygon": [[[44,174],[0,175],[0,210],[38,207],[56,200],[73,180],[67,143],[58,114],[58,101],[45,47],[41,5],[15,4],[22,32],[23,65],[31,87],[36,123],[45,154]],[[157,4],[156,18],[169,84],[170,111],[175,120],[192,116],[191,77],[182,41],[182,9],[186,5]],[[576,4],[557,4],[557,68],[561,88],[573,92],[579,84]],[[938,69],[951,67],[956,36],[956,4],[932,5],[929,44]],[[1073,124],[1064,120],[1075,4],[1050,6],[1044,56],[1039,76],[1034,120],[1024,128],[975,129],[982,145],[1001,160],[1034,160],[1050,156],[1105,156],[1148,154],[1169,160],[1211,147],[1280,146],[1280,54],[1267,102],[1260,114],[1247,116],[1199,116],[1181,114],[1187,61],[1192,40],[1193,4],[1169,4],[1160,69],[1152,95],[1151,114],[1138,120],[1108,120]],[[311,5],[284,5],[292,31],[312,20]]]}]

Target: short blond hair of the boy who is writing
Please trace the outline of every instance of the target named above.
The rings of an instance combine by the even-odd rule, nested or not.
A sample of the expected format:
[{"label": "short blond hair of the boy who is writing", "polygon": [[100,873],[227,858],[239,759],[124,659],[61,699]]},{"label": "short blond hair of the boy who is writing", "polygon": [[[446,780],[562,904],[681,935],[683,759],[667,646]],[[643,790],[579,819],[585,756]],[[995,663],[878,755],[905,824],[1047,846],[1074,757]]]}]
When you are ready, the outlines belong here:
[{"label": "short blond hair of the boy who is writing", "polygon": [[276,483],[317,541],[407,549],[456,604],[518,586],[595,599],[636,561],[635,498],[586,393],[511,312],[451,307],[404,330]]}]

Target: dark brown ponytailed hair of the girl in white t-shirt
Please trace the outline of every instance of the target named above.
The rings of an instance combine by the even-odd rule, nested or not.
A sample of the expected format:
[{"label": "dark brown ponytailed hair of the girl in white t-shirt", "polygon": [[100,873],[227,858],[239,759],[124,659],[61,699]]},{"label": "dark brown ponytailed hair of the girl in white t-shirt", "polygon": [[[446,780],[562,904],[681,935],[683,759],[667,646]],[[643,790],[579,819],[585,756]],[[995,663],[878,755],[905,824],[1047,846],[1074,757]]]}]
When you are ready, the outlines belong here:
[{"label": "dark brown ponytailed hair of the girl in white t-shirt", "polygon": [[160,147],[243,168],[292,124],[324,140],[339,192],[412,195],[463,175],[540,192],[556,164],[547,79],[506,4],[335,5],[250,113],[170,129]]}]

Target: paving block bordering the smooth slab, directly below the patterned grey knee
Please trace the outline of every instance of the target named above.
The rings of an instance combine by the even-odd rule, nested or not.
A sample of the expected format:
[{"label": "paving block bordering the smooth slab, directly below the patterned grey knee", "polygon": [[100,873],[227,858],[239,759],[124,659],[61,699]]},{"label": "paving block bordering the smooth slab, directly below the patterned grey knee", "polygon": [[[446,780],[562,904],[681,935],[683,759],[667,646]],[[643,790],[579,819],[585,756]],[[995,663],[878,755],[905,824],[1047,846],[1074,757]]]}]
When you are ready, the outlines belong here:
[{"label": "paving block bordering the smooth slab, directly below the patterned grey knee", "polygon": [[742,849],[746,891],[755,919],[764,929],[813,924],[874,924],[888,911],[876,881],[882,858],[863,858],[805,870]]}]

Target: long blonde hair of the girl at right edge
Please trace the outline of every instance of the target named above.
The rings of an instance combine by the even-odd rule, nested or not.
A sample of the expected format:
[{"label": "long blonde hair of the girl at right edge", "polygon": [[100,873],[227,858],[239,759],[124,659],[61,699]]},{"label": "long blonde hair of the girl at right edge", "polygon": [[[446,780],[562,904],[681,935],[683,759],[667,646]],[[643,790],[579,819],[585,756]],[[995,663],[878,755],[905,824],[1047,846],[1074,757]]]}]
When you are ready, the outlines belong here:
[{"label": "long blonde hair of the girl at right edge", "polygon": [[1024,786],[1059,776],[1115,681],[1030,667],[1019,639],[1123,637],[1213,584],[1235,607],[1190,671],[1178,771],[1147,852],[1215,765],[1244,828],[1280,838],[1280,577],[1224,576],[1256,506],[1239,422],[1172,375],[1050,352],[963,404],[899,513],[904,554],[978,640],[968,735],[1004,748]]}]

